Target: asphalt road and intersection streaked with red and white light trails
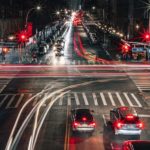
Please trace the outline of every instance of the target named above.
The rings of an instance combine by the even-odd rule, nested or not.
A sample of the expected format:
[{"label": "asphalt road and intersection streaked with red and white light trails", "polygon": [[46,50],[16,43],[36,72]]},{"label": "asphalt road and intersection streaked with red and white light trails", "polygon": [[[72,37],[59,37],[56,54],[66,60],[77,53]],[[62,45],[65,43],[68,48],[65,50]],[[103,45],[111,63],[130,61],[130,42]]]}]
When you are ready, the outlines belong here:
[{"label": "asphalt road and intersection streaked with red and white light trails", "polygon": [[[45,59],[50,64],[48,67],[1,66],[1,149],[5,149],[6,144],[17,150],[32,149],[33,145],[36,150],[110,149],[111,143],[131,139],[122,137],[112,141],[107,121],[110,109],[118,106],[135,108],[145,123],[141,139],[150,140],[150,110],[143,97],[143,92],[148,92],[150,87],[146,78],[149,69],[146,66],[139,69],[134,65],[108,65],[103,60],[107,57],[103,51],[100,61],[94,62],[93,53],[98,48],[89,45],[83,27],[70,28],[68,34],[65,56],[55,58],[52,53],[48,54]],[[63,90],[58,91],[60,89]],[[27,107],[10,136],[25,103],[28,103]],[[94,110],[96,130],[92,135],[72,134],[70,110],[73,108]]]}]

